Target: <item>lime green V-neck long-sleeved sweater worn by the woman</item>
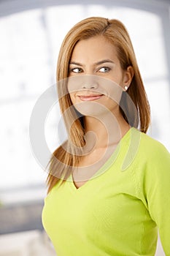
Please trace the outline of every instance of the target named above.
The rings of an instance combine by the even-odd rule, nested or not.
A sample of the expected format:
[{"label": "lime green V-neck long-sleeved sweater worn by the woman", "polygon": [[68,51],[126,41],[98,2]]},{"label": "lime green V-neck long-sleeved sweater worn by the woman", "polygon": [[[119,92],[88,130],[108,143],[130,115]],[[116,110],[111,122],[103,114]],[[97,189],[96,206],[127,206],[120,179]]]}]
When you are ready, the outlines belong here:
[{"label": "lime green V-neck long-sleeved sweater worn by the woman", "polygon": [[131,128],[93,178],[45,198],[42,222],[58,256],[170,255],[170,154]]}]

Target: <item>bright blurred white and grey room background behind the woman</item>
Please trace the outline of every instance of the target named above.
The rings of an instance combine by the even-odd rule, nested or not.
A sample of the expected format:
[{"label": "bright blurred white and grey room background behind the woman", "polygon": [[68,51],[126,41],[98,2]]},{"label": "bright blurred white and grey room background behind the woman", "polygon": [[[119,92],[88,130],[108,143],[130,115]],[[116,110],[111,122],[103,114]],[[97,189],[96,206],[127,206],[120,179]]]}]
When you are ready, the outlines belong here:
[{"label": "bright blurred white and grey room background behind the woman", "polygon": [[[40,239],[39,234],[43,233],[40,213],[47,173],[31,151],[29,121],[36,100],[55,84],[61,42],[78,21],[103,16],[117,18],[125,24],[150,101],[152,126],[148,133],[170,151],[169,10],[168,0],[81,1],[81,4],[74,0],[72,4],[69,0],[0,1],[0,244],[3,244],[0,248],[4,248],[4,251],[0,249],[0,256],[25,255],[25,249],[21,252],[19,245],[10,251],[4,237],[9,244],[8,239],[20,239],[17,237],[21,233],[14,236],[15,232],[27,231],[28,239],[35,236],[32,241]],[[58,106],[54,109],[45,124],[51,151],[59,143],[55,115],[60,114]],[[26,217],[31,207],[34,217],[30,214]],[[25,218],[26,225],[24,221],[22,225],[14,225],[14,211],[21,219]],[[13,218],[10,225],[8,218]],[[32,225],[33,220],[35,225]],[[34,235],[28,235],[28,230]],[[37,236],[36,231],[39,232]],[[37,248],[37,255],[43,255]],[[36,255],[36,250],[28,255]],[[53,252],[46,255],[50,253],[53,255]]]}]

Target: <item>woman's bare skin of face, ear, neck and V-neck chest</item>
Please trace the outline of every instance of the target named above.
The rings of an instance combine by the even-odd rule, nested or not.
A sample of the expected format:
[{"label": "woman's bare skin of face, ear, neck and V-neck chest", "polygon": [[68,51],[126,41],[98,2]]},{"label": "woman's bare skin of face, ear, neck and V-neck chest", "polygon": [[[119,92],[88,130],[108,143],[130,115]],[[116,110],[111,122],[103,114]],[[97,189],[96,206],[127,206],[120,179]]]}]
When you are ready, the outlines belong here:
[{"label": "woman's bare skin of face, ear, neck and V-neck chest", "polygon": [[93,176],[130,129],[118,102],[133,75],[131,66],[126,70],[120,67],[115,46],[103,36],[83,39],[75,45],[68,90],[74,107],[84,115],[86,132],[85,155],[73,173],[75,187]]}]

